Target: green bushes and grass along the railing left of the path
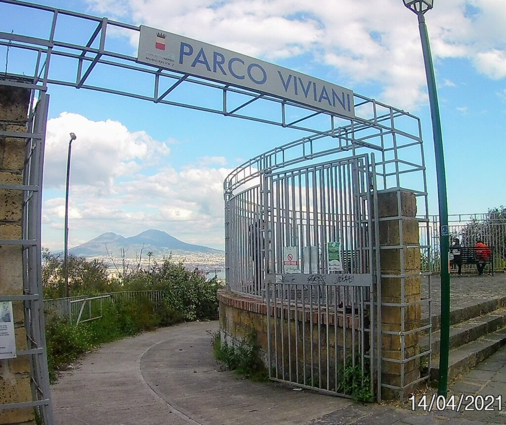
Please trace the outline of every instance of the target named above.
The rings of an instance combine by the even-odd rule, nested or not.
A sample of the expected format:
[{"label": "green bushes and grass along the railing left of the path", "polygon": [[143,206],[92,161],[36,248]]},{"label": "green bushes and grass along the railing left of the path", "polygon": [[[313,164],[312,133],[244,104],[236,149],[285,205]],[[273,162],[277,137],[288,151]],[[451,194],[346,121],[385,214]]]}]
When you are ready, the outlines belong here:
[{"label": "green bushes and grass along the railing left of the path", "polygon": [[[44,251],[44,256],[45,296],[61,295],[64,290],[62,259],[47,250]],[[107,279],[106,268],[101,262],[84,258],[71,260],[69,275],[72,279],[72,295],[162,290],[165,296],[157,302],[143,296],[135,301],[104,301],[102,318],[82,322],[77,326],[70,325],[63,319],[48,320],[46,340],[52,380],[55,379],[57,370],[100,344],[185,320],[218,318],[218,281],[206,280],[198,270],[190,271],[183,263],[172,262],[170,257],[164,258],[161,263],[154,262],[149,272],[130,272],[121,284]],[[98,313],[97,309],[97,306],[93,307],[93,314]]]}]

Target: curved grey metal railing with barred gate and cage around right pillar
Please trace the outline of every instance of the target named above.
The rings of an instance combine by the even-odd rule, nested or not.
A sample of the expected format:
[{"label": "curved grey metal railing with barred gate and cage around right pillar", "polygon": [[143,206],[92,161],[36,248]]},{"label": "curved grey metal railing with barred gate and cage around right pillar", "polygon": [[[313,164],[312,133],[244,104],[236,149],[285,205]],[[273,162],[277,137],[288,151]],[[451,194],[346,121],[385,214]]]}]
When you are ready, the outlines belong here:
[{"label": "curved grey metal railing with barred gate and cage around right pillar", "polygon": [[[373,122],[351,122],[326,135],[314,134],[275,147],[245,161],[224,182],[227,288],[260,297],[267,304],[269,377],[347,397],[336,382],[342,378],[340,370],[346,367],[348,353],[348,359],[357,362],[354,366],[370,374],[370,381],[377,385],[378,401],[382,388],[397,390],[403,397],[407,388],[429,379],[431,368],[429,349],[415,355],[427,360],[429,372],[415,382],[404,381],[405,364],[413,358],[406,358],[404,350],[401,359],[384,357],[382,334],[400,335],[404,341],[408,333],[427,331],[429,347],[432,344],[432,262],[427,242],[431,230],[420,122],[381,106],[386,111]],[[410,303],[404,291],[400,303],[382,302],[381,280],[392,275],[381,273],[379,259],[381,249],[399,248],[403,256],[409,245],[401,235],[399,245],[380,247],[377,233],[380,221],[398,221],[402,228],[400,201],[395,217],[378,218],[377,193],[397,189],[409,190],[418,199],[421,275],[425,276],[425,295],[419,303],[427,320],[410,330],[402,320],[400,332],[382,329],[382,306],[405,309]],[[312,280],[311,276],[322,275],[327,281],[335,276],[329,272],[325,252],[326,244],[335,240],[347,246],[344,273],[362,276],[361,284],[329,286]],[[286,247],[298,253],[300,275],[283,272]],[[408,274],[401,271],[399,277],[404,280]],[[316,334],[308,324],[313,314],[318,317]],[[341,327],[350,319],[351,329]],[[340,332],[347,336],[338,337]],[[333,342],[339,338],[343,346],[338,350]],[[382,362],[400,363],[400,385],[381,382]]]}]

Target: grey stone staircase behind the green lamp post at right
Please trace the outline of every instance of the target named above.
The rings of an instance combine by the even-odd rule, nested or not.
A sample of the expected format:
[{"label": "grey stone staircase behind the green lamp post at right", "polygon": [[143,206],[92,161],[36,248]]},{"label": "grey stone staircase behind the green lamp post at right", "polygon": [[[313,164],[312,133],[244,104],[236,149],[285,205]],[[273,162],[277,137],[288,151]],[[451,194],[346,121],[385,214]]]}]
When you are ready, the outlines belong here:
[{"label": "grey stone staircase behind the green lamp post at right", "polygon": [[[439,376],[441,317],[433,316],[431,380]],[[450,312],[448,380],[474,368],[506,344],[506,296]],[[429,336],[420,341],[429,348]]]}]

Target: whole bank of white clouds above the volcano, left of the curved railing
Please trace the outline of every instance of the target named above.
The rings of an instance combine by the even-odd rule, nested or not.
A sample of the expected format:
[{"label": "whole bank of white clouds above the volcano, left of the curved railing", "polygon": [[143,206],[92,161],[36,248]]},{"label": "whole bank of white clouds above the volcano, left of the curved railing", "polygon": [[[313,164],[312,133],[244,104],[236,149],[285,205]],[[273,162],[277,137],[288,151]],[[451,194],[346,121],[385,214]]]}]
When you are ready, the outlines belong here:
[{"label": "whole bank of white clouds above the volcano, left of the curved railing", "polygon": [[[170,152],[166,143],[142,131],[130,132],[117,121],[71,113],[48,122],[45,246],[61,249],[63,243],[70,131],[77,135],[72,142],[70,246],[104,232],[131,236],[156,228],[187,242],[223,248],[223,181],[231,171],[222,166],[225,157],[197,158],[196,164],[177,170],[160,163]],[[149,175],[143,174],[148,166]]]}]

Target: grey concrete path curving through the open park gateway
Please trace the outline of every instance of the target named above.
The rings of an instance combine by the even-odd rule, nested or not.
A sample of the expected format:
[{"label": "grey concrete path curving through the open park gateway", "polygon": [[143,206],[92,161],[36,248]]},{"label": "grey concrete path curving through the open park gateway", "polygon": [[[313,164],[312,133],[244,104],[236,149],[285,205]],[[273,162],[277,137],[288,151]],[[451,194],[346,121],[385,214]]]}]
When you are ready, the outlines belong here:
[{"label": "grey concrete path curving through the open park gateway", "polygon": [[[88,354],[52,387],[56,424],[506,423],[506,414],[498,411],[422,414],[411,412],[406,403],[367,405],[274,382],[250,382],[221,371],[214,361],[206,331],[217,327],[218,322],[181,324]],[[506,397],[504,364],[506,348],[452,390]],[[506,404],[502,408],[506,413]]]}]

